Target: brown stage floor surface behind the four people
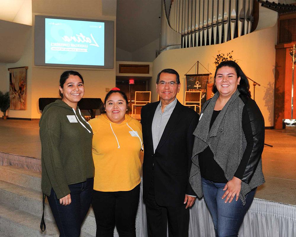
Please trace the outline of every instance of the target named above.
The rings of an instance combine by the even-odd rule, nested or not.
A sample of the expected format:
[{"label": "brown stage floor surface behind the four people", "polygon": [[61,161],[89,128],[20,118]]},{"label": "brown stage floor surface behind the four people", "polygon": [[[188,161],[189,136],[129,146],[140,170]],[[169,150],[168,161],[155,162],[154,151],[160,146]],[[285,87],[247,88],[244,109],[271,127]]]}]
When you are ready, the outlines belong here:
[{"label": "brown stage floor surface behind the four people", "polygon": [[[25,162],[20,167],[41,170],[38,122],[0,120],[0,161]],[[266,183],[258,188],[255,197],[296,205],[296,129],[266,129],[265,134],[265,143],[273,147],[264,147],[262,162]]]}]

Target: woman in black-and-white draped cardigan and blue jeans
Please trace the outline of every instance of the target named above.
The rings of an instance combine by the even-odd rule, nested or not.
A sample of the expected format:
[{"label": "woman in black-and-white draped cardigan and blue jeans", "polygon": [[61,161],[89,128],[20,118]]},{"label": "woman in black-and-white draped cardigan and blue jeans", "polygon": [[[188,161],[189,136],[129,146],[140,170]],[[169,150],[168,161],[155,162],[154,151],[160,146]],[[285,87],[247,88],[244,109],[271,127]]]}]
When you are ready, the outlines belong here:
[{"label": "woman in black-and-white draped cardigan and blue jeans", "polygon": [[194,131],[190,184],[213,217],[216,236],[237,236],[255,190],[265,180],[261,154],[264,119],[249,82],[234,61],[215,72],[215,95]]}]

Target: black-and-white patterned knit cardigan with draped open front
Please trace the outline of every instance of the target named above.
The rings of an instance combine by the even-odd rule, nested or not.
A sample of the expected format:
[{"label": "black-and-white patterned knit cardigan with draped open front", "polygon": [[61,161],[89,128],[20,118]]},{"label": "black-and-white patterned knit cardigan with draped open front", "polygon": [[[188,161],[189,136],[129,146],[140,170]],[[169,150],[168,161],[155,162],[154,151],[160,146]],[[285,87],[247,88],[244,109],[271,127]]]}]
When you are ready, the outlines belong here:
[{"label": "black-and-white patterned knit cardigan with draped open front", "polygon": [[[210,147],[214,154],[215,161],[223,169],[227,180],[231,180],[233,178],[234,173],[237,171],[237,168],[243,157],[247,146],[244,131],[242,129],[242,111],[245,103],[241,97],[239,97],[239,95],[240,92],[238,90],[234,92],[217,116],[210,131],[210,121],[216,101],[219,97],[219,93],[216,92],[213,98],[207,100],[202,107],[200,121],[193,133],[195,139],[192,151],[192,166],[189,177],[189,182],[192,186],[192,189],[199,198],[202,198],[203,196],[200,167],[198,163],[198,154],[200,152],[205,150],[207,146]],[[251,101],[258,108],[255,101]],[[260,115],[262,116],[261,112]],[[252,132],[253,134],[256,133],[256,131],[254,131],[254,127],[252,127]],[[255,163],[256,168],[253,168],[255,172],[252,174],[252,176],[250,176],[249,182],[244,182],[244,180],[242,180],[241,184],[239,197],[242,200],[243,205],[245,205],[246,194],[249,193],[253,188],[258,187],[265,182],[262,172],[261,159],[264,146],[264,120],[263,141],[257,141],[257,145],[258,143],[260,147],[255,148],[254,146],[253,148],[253,153],[255,151],[257,153],[255,155],[258,157]]]}]

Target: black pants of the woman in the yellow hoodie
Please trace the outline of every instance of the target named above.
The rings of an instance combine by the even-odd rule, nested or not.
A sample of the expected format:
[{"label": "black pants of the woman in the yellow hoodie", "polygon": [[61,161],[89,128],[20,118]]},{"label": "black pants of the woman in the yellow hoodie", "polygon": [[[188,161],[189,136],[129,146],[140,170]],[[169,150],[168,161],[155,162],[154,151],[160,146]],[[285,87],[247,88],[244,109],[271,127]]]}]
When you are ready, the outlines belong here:
[{"label": "black pants of the woman in the yellow hoodie", "polygon": [[96,236],[113,237],[114,227],[120,237],[136,237],[136,214],[140,185],[130,191],[100,192],[94,190],[91,205],[96,217]]}]

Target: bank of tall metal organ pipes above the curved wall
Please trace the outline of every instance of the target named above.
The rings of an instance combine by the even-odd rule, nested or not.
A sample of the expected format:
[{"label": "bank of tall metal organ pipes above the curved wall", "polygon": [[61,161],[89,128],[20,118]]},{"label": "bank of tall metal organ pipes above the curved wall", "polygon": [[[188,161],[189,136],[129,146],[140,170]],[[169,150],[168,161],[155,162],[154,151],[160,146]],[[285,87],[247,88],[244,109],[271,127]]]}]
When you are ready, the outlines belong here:
[{"label": "bank of tall metal organ pipes above the curved wall", "polygon": [[246,35],[251,32],[252,12],[253,0],[172,0],[167,14],[162,0],[160,52]]}]

